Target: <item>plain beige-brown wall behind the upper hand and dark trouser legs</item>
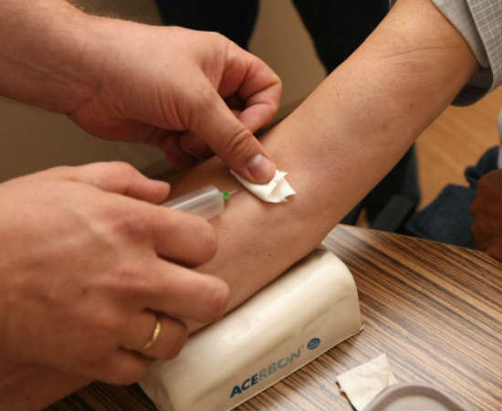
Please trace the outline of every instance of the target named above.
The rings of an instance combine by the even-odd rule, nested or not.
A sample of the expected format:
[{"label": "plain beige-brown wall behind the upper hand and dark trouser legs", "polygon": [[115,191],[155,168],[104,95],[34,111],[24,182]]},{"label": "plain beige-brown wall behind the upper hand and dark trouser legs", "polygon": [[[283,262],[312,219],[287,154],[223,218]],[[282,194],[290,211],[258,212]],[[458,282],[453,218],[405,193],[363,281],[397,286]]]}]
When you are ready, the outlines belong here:
[{"label": "plain beige-brown wall behind the upper hand and dark trouser legs", "polygon": [[[89,12],[159,21],[151,0],[78,0]],[[284,82],[281,111],[303,100],[324,77],[310,39],[288,0],[262,0],[251,51]],[[150,147],[105,142],[82,132],[64,116],[0,100],[0,181],[59,164],[123,160],[160,173],[169,165]]]}]

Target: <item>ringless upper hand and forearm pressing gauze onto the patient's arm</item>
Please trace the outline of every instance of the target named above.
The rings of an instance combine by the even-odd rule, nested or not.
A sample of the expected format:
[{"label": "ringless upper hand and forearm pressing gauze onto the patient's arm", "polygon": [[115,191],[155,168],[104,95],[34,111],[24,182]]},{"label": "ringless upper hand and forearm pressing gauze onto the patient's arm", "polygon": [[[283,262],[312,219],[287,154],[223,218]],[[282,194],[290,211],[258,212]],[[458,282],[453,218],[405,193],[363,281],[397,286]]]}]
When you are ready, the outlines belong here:
[{"label": "ringless upper hand and forearm pressing gauze onto the patient's arm", "polygon": [[3,0],[0,40],[5,97],[104,139],[152,144],[179,166],[212,149],[247,180],[275,172],[252,132],[277,113],[280,79],[221,35],[88,16],[64,0]]}]

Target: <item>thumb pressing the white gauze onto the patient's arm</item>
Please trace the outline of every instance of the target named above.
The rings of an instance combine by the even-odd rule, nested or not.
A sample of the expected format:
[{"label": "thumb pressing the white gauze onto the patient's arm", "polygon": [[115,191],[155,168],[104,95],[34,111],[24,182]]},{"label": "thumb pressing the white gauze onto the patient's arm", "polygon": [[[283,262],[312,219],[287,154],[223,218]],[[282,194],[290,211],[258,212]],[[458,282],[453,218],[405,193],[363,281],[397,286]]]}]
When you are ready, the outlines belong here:
[{"label": "thumb pressing the white gauze onto the patient's arm", "polygon": [[190,131],[203,139],[236,174],[256,184],[266,184],[272,179],[276,165],[216,90],[196,116]]}]

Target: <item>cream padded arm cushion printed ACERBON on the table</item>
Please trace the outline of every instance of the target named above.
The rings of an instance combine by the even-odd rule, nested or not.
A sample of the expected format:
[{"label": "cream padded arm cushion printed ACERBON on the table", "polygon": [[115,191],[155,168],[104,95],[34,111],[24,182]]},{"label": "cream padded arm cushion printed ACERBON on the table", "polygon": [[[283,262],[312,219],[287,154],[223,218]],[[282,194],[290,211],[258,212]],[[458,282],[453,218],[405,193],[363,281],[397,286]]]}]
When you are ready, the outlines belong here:
[{"label": "cream padded arm cushion printed ACERBON on the table", "polygon": [[141,387],[160,410],[232,409],[361,329],[349,269],[315,250],[172,361],[152,364]]}]

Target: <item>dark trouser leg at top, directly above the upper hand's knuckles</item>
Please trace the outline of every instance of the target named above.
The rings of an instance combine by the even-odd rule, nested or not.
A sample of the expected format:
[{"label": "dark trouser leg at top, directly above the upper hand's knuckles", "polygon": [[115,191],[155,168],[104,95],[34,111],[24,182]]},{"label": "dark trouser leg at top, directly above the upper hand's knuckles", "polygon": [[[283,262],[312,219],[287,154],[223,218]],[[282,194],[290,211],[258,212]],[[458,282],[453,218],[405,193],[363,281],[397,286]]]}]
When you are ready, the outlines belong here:
[{"label": "dark trouser leg at top, directly above the upper hand's knuckles", "polygon": [[156,0],[166,26],[217,31],[247,48],[258,13],[258,1]]}]

